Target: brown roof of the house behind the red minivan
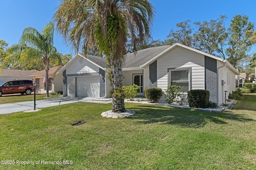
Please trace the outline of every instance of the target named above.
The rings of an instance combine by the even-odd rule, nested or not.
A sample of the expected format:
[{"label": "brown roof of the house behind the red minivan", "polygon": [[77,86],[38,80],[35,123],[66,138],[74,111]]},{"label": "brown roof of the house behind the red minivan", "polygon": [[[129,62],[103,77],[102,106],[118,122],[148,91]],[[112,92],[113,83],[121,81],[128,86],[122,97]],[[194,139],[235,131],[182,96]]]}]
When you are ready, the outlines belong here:
[{"label": "brown roof of the house behind the red minivan", "polygon": [[3,69],[0,72],[0,76],[4,77],[29,77],[30,74],[38,72],[38,70],[15,70],[15,69]]}]

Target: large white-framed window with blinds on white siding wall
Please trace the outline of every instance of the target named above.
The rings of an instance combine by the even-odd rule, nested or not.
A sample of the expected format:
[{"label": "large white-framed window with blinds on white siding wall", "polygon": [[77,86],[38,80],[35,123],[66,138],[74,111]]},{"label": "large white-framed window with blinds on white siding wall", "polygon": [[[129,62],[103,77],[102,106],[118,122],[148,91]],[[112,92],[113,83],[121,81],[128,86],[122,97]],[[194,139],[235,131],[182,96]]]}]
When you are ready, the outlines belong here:
[{"label": "large white-framed window with blinds on white siding wall", "polygon": [[171,70],[170,85],[183,87],[184,92],[189,91],[189,70]]}]

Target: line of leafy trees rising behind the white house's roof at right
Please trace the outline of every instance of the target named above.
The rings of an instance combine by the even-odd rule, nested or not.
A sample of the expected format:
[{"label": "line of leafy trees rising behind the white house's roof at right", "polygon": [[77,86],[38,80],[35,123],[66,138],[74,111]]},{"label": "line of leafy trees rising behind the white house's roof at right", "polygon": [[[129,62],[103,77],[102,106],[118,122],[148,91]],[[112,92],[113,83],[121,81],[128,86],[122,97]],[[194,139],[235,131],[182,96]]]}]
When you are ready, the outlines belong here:
[{"label": "line of leafy trees rising behind the white house's roof at right", "polygon": [[[252,48],[256,44],[255,24],[246,15],[236,15],[226,26],[226,16],[216,20],[196,21],[186,20],[176,24],[176,30],[171,29],[164,40],[153,40],[148,37],[138,49],[173,45],[180,43],[198,49],[210,55],[227,59],[235,68],[242,72],[252,72],[256,66],[256,53]],[[128,51],[130,51],[128,45]]]}]

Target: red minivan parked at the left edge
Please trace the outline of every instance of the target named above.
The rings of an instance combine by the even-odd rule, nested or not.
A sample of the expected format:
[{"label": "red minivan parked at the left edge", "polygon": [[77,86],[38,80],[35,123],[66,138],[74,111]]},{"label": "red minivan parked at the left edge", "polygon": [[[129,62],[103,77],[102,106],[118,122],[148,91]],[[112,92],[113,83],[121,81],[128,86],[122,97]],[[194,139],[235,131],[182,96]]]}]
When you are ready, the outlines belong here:
[{"label": "red minivan parked at the left edge", "polygon": [[0,96],[2,94],[31,94],[34,91],[32,80],[11,80],[0,83]]}]

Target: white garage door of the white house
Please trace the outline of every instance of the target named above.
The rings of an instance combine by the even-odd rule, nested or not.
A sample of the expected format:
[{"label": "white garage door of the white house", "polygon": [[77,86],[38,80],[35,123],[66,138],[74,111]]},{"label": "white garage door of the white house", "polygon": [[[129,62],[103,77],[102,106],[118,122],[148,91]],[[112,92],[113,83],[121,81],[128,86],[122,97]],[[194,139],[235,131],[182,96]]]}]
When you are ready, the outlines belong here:
[{"label": "white garage door of the white house", "polygon": [[76,77],[76,96],[100,97],[99,76]]}]

